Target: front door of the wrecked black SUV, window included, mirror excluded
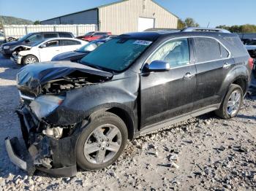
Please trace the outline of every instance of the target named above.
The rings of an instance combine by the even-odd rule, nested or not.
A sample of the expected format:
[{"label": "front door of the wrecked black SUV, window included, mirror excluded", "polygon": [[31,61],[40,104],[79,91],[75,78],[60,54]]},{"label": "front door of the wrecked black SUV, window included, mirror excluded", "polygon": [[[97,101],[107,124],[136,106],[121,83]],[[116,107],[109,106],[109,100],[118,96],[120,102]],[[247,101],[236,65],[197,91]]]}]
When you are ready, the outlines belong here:
[{"label": "front door of the wrecked black SUV, window included, mirror excluded", "polygon": [[146,61],[170,63],[170,71],[141,74],[142,128],[192,112],[196,70],[190,55],[189,40],[176,39],[163,44]]}]

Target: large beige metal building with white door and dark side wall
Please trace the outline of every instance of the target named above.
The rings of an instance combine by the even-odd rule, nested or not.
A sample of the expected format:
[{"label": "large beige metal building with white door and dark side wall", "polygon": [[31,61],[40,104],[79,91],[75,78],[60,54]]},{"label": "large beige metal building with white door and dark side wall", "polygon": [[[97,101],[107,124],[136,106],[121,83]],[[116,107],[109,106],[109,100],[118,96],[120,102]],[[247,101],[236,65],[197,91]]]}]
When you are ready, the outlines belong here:
[{"label": "large beige metal building with white door and dark side wall", "polygon": [[41,24],[95,24],[99,31],[123,34],[148,28],[177,28],[178,17],[153,0],[122,0],[43,20]]}]

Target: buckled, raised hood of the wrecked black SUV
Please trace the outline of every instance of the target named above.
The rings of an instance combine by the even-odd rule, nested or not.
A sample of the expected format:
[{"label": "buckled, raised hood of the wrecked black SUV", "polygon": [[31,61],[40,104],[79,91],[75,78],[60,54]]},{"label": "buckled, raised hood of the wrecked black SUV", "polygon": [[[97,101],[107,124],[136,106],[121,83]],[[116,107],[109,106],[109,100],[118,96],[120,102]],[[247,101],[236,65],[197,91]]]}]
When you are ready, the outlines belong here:
[{"label": "buckled, raised hood of the wrecked black SUV", "polygon": [[[24,66],[17,74],[17,84],[19,89],[32,90],[38,95],[42,85],[54,79],[67,77],[76,71],[80,71],[79,77],[87,77],[88,74],[110,79],[113,74],[108,71],[101,71],[70,61],[34,63]],[[33,90],[34,89],[34,90]]]}]

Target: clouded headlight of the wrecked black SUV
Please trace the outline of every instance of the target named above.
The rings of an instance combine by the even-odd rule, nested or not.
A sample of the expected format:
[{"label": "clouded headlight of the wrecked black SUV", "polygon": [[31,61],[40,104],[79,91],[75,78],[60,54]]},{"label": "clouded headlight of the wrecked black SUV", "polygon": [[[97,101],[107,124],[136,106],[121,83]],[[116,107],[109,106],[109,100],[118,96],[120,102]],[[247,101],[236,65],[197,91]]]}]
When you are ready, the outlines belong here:
[{"label": "clouded headlight of the wrecked black SUV", "polygon": [[39,120],[41,120],[42,117],[47,117],[61,105],[62,101],[64,101],[64,96],[42,95],[34,99],[29,106]]}]

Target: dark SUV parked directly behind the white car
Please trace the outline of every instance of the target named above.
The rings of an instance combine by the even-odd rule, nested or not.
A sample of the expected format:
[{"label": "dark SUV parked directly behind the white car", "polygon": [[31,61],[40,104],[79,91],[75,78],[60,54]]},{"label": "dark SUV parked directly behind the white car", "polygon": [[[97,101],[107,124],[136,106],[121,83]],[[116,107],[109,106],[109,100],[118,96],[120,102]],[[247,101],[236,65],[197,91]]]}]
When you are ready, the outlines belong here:
[{"label": "dark SUV parked directly behind the white car", "polygon": [[21,39],[18,39],[18,41],[12,41],[7,42],[1,45],[1,53],[5,57],[10,57],[12,55],[12,49],[14,47],[20,46],[20,45],[31,45],[35,42],[40,42],[43,39],[50,39],[50,38],[57,38],[57,37],[63,37],[63,38],[74,38],[75,36],[72,33],[69,32],[38,32],[38,33],[30,33],[25,36],[23,36]]}]

